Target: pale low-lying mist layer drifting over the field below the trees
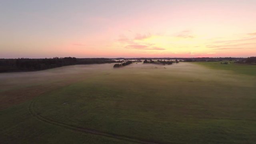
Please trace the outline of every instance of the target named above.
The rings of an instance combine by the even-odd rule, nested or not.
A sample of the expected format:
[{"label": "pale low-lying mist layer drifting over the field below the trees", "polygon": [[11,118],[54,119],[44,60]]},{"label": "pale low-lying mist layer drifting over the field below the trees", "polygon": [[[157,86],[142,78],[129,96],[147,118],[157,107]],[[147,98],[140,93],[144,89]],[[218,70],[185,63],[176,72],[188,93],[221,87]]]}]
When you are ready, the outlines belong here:
[{"label": "pale low-lying mist layer drifting over the field below the trees", "polygon": [[[34,84],[53,83],[54,81],[80,80],[94,74],[123,72],[126,73],[163,73],[180,77],[191,77],[200,80],[221,80],[236,82],[239,76],[229,71],[212,70],[197,64],[186,62],[172,65],[133,63],[121,68],[113,68],[114,64],[87,64],[64,66],[36,72],[0,73],[2,90],[10,86],[28,86]],[[243,78],[244,79],[244,78]]]}]

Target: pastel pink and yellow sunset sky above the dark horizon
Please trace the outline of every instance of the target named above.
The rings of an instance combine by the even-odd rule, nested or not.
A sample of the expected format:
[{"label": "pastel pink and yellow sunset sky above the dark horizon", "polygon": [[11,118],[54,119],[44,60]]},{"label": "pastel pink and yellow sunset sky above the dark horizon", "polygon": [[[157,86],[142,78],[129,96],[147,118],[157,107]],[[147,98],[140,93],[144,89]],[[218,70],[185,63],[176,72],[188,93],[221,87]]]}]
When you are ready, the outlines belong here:
[{"label": "pastel pink and yellow sunset sky above the dark horizon", "polygon": [[0,58],[256,56],[256,0],[0,0]]}]

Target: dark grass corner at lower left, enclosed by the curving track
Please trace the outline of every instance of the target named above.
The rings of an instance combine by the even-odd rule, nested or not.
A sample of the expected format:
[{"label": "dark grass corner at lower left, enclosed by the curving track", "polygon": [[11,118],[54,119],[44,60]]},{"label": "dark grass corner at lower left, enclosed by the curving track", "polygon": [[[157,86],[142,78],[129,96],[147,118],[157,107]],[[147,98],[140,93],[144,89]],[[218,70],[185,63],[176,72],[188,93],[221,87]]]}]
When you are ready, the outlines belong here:
[{"label": "dark grass corner at lower left, enclosed by the curving track", "polygon": [[1,144],[120,144],[124,142],[42,122],[28,112],[28,104],[29,102],[26,102],[1,112]]}]

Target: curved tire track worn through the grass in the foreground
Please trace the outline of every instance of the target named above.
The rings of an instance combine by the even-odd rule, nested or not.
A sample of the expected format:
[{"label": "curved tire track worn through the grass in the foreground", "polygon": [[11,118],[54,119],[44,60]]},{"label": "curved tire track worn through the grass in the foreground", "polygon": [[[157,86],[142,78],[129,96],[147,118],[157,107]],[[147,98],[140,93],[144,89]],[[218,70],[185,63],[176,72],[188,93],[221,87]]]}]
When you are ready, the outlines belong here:
[{"label": "curved tire track worn through the grass in the foreground", "polygon": [[[65,123],[62,123],[62,122],[51,120],[49,118],[45,118],[45,117],[41,116],[40,114],[38,114],[37,112],[34,111],[35,101],[36,100],[33,100],[29,105],[30,113],[34,117],[36,117],[38,120],[40,120],[42,122],[46,122],[48,124],[53,124],[55,126],[68,128],[70,130],[80,131],[80,132],[94,134],[94,135],[98,135],[98,136],[106,136],[106,137],[109,137],[109,138],[115,138],[115,139],[119,139],[119,140],[125,140],[125,141],[128,141],[128,142],[135,142],[135,143],[139,143],[139,144],[168,144],[168,143],[163,143],[163,142],[156,142],[156,141],[153,141],[153,140],[145,140],[145,139],[141,139],[141,138],[134,138],[134,137],[124,136],[124,135],[111,134],[111,133],[101,132],[101,131],[98,131],[98,130],[92,130],[92,129],[88,129],[88,128],[81,128],[81,127],[73,126],[73,125],[70,125],[70,124],[65,124]],[[174,143],[172,143],[172,144],[174,144]],[[175,144],[177,144],[177,143],[175,143]]]}]

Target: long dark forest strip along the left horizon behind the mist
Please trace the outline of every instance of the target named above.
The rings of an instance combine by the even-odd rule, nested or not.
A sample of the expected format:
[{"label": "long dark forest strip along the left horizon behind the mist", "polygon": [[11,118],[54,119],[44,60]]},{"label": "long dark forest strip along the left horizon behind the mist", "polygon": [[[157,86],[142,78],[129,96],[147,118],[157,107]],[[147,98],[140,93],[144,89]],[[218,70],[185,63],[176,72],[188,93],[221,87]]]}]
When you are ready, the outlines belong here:
[{"label": "long dark forest strip along the left horizon behind the mist", "polygon": [[103,64],[116,63],[109,58],[18,58],[18,59],[0,59],[0,72],[19,72],[19,71],[36,71],[69,66],[74,64]]}]

